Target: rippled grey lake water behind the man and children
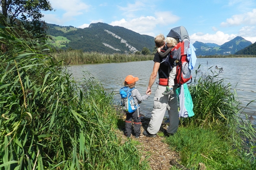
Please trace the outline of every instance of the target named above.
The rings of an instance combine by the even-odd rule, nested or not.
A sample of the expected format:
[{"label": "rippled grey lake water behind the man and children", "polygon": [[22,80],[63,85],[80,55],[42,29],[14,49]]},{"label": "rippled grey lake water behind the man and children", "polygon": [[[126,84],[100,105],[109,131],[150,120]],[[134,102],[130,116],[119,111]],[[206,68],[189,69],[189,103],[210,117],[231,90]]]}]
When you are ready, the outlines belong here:
[{"label": "rippled grey lake water behind the man and children", "polygon": [[[208,63],[208,65],[207,65]],[[242,103],[242,107],[245,107],[250,101],[256,99],[256,58],[208,58],[197,59],[195,68],[192,70],[193,77],[195,78],[195,70],[198,65],[200,74],[207,73],[209,67],[214,70],[217,65],[218,68],[223,68],[221,78],[224,78],[225,83],[230,83],[232,90],[236,89],[238,99]],[[123,87],[123,82],[128,74],[132,74],[134,77],[139,77],[139,81],[136,82],[136,88],[140,91],[140,94],[144,95],[148,86],[148,80],[153,68],[153,61],[141,61],[141,62],[122,62],[122,63],[106,63],[106,64],[84,64],[84,65],[71,65],[68,69],[73,74],[73,77],[77,82],[82,82],[84,71],[89,71],[93,77],[98,79],[107,93],[113,91],[114,102],[118,105],[120,101],[119,89]],[[211,73],[208,71],[209,74]],[[152,86],[152,94],[144,100],[141,106],[141,112],[147,116],[151,116],[153,106],[153,96],[157,84]],[[244,112],[247,115],[252,115],[256,122],[256,101],[250,103]],[[168,115],[166,114],[166,117]]]}]

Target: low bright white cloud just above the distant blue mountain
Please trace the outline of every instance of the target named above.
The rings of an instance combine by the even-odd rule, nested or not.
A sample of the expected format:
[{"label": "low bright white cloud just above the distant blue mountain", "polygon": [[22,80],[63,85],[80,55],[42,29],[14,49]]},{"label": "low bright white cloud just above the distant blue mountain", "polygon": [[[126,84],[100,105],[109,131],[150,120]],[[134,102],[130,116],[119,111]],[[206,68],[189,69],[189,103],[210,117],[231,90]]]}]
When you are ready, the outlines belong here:
[{"label": "low bright white cloud just above the distant blue mountain", "polygon": [[230,40],[232,40],[233,38],[235,38],[236,35],[235,34],[224,34],[221,31],[217,31],[216,34],[204,34],[202,35],[200,34],[192,34],[189,35],[190,38],[190,42],[193,44],[195,41],[199,41],[199,42],[211,42],[211,43],[216,43],[218,45],[222,45],[225,42],[228,42]]}]

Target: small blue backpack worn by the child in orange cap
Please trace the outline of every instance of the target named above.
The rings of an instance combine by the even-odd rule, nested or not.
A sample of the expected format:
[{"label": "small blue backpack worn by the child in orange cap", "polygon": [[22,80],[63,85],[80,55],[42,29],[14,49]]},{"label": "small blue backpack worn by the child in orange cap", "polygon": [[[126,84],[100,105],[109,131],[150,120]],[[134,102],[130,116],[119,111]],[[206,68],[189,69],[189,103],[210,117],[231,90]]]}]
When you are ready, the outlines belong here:
[{"label": "small blue backpack worn by the child in orange cap", "polygon": [[127,86],[119,90],[121,95],[121,105],[125,113],[133,113],[139,107],[139,104],[134,104],[134,99],[131,96],[131,91],[135,88],[129,88]]}]

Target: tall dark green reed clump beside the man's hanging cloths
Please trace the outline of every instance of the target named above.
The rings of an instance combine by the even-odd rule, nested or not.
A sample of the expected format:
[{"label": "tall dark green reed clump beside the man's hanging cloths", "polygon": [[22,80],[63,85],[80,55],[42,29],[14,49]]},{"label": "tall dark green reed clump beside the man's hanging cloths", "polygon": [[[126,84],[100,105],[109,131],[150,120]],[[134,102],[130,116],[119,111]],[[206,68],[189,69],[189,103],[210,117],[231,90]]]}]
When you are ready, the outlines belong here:
[{"label": "tall dark green reed clump beside the man's hanging cloths", "polygon": [[195,72],[194,84],[189,86],[196,114],[185,121],[204,127],[225,127],[239,113],[236,95],[230,91],[229,83],[225,84],[224,79],[219,79],[221,68],[214,68],[212,71],[210,67],[210,73],[196,79],[199,68],[200,65]]}]

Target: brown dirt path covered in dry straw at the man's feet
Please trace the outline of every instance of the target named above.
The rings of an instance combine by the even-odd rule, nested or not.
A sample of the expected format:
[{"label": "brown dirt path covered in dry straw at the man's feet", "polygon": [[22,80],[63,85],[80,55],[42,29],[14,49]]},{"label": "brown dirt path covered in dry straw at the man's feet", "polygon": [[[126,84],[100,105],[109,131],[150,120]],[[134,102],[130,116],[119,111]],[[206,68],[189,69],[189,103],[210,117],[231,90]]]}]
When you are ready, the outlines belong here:
[{"label": "brown dirt path covered in dry straw at the man's feet", "polygon": [[[141,160],[146,159],[149,156],[148,161],[152,170],[169,170],[170,167],[176,166],[177,160],[179,159],[177,153],[170,150],[169,145],[163,142],[164,136],[159,136],[155,138],[144,136],[142,133],[148,127],[150,119],[146,119],[142,117],[142,126],[141,126],[141,135],[139,139],[136,139],[133,135],[131,135],[132,140],[137,140],[141,145],[137,146],[137,149],[143,153],[144,156],[141,157]],[[160,132],[166,129],[168,123],[163,123]],[[123,127],[117,132],[118,137],[121,137],[125,142],[128,140],[126,136],[124,136]],[[172,165],[171,165],[172,163]]]}]

